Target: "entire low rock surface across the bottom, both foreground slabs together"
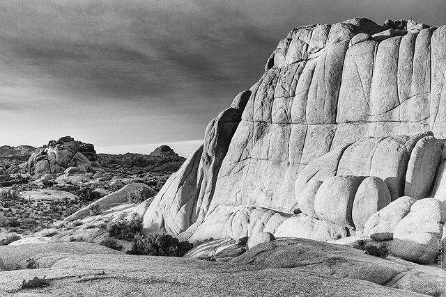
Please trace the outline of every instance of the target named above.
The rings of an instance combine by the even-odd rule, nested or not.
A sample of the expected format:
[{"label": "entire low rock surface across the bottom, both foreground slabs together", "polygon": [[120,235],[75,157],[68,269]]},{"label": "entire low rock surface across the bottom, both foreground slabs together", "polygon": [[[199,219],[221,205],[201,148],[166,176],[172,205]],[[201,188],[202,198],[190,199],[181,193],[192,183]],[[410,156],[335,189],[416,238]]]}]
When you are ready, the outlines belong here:
[{"label": "entire low rock surface across the bottom, both foreground slabs together", "polygon": [[[0,255],[12,257],[13,261],[25,262],[27,257],[33,257],[40,264],[40,268],[33,270],[1,271],[0,294],[29,296],[31,292],[26,290],[10,292],[17,291],[22,280],[30,280],[38,273],[46,275],[51,285],[33,289],[33,296],[66,296],[72,292],[82,296],[346,296],[348,288],[348,294],[355,296],[403,297],[422,295],[364,280],[371,278],[372,271],[379,271],[390,264],[393,264],[390,272],[376,275],[375,280],[385,281],[397,271],[406,271],[403,278],[399,279],[400,282],[409,278],[412,271],[420,277],[429,273],[417,271],[417,266],[407,268],[403,264],[374,257],[359,259],[359,254],[348,262],[355,265],[346,265],[341,261],[342,252],[341,258],[336,254],[349,248],[332,249],[334,245],[328,244],[323,249],[325,257],[315,252],[305,260],[307,264],[314,263],[314,267],[300,266],[292,255],[282,257],[276,265],[262,266],[267,255],[278,258],[274,250],[264,248],[274,242],[277,241],[256,246],[251,252],[245,253],[247,257],[238,257],[236,259],[239,261],[228,263],[130,256],[113,250],[107,252],[107,248],[95,247],[92,243],[68,243],[73,244],[72,248],[57,243],[0,247]],[[298,242],[305,245],[305,241],[289,241],[289,245]],[[82,247],[94,250],[94,253],[82,255]],[[254,256],[256,253],[258,256]],[[247,264],[248,259],[254,260],[254,264]],[[389,264],[383,264],[385,262]],[[328,267],[332,267],[334,275],[330,275]],[[362,271],[360,268],[364,267],[367,269]],[[429,289],[437,296],[444,294],[438,291],[438,287]]]}]

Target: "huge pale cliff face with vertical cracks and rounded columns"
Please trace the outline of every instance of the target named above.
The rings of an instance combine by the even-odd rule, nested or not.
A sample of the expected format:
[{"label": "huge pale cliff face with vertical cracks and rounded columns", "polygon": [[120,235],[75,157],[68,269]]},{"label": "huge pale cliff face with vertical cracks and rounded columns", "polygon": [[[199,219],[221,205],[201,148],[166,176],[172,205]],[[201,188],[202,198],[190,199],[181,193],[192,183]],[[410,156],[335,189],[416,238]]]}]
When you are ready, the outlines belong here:
[{"label": "huge pale cliff face with vertical cracks and rounded columns", "polygon": [[293,29],[157,194],[144,232],[330,241],[402,196],[445,200],[445,73],[446,26]]}]

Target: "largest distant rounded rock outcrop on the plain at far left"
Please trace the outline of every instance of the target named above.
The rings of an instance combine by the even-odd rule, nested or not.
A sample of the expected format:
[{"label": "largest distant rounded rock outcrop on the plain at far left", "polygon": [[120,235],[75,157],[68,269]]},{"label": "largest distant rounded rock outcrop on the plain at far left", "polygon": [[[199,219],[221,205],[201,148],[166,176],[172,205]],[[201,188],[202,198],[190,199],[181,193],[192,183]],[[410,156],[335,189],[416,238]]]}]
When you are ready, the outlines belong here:
[{"label": "largest distant rounded rock outcrop on the plain at far left", "polygon": [[91,144],[75,141],[70,136],[49,141],[48,145],[38,147],[30,156],[28,170],[33,175],[61,173],[70,167],[76,167],[82,173],[89,172],[92,169],[91,161],[82,151],[95,160],[96,154]]}]

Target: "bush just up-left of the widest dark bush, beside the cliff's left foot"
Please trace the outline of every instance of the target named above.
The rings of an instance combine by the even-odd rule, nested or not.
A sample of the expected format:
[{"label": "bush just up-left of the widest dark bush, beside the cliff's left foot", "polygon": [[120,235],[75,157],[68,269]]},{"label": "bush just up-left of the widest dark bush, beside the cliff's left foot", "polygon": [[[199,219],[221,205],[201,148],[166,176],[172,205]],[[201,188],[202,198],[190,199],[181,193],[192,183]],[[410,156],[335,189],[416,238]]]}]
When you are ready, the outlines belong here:
[{"label": "bush just up-left of the widest dark bush, beside the cliff's left foot", "polygon": [[125,218],[125,214],[119,216],[107,227],[109,236],[116,236],[118,239],[132,241],[134,236],[142,230],[142,217],[133,213],[130,218]]}]

